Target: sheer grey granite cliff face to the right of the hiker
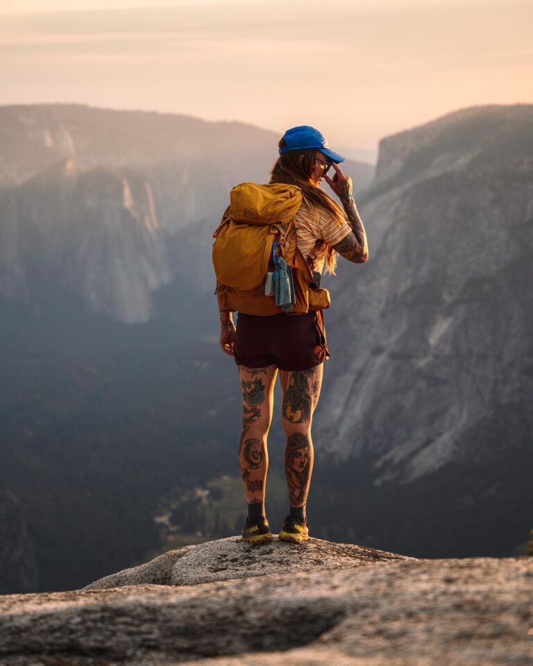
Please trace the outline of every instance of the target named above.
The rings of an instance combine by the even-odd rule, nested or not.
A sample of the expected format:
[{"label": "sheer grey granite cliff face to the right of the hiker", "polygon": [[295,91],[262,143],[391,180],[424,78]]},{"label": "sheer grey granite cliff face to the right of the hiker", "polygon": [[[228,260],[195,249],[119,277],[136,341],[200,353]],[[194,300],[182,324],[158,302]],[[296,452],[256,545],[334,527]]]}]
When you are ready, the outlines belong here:
[{"label": "sheer grey granite cliff face to the right of the hiker", "polygon": [[517,159],[418,181],[368,265],[332,284],[335,346],[357,351],[332,358],[319,423],[339,452],[378,455],[378,478],[409,481],[470,447],[491,455],[502,431],[511,449],[531,432],[532,176]]}]

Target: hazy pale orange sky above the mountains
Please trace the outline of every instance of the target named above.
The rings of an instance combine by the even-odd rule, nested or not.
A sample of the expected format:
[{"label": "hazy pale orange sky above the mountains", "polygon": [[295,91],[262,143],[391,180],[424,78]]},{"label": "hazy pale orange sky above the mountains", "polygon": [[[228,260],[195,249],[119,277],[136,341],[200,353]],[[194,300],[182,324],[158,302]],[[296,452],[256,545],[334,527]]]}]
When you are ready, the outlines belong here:
[{"label": "hazy pale orange sky above the mountains", "polygon": [[332,147],[533,101],[531,0],[0,0],[1,103],[317,126]]}]

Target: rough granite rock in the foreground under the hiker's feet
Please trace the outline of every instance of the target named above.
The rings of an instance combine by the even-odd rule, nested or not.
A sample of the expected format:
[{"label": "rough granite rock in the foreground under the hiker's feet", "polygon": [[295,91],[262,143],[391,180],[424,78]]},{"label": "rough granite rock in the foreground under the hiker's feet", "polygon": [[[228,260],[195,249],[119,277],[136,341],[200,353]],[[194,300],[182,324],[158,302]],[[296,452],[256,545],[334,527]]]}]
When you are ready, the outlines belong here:
[{"label": "rough granite rock in the foreground under the hiker's feet", "polygon": [[[302,564],[306,553],[312,568],[287,572],[287,563]],[[209,571],[224,555],[226,562],[237,557],[232,580],[230,569]],[[142,583],[158,576],[168,583],[169,572],[174,576],[187,558],[186,585]],[[242,578],[248,558],[252,574]],[[269,562],[263,576],[261,558]],[[252,549],[230,538],[150,564],[143,575],[142,567],[130,569],[137,585],[0,597],[0,662],[530,666],[533,660],[533,558],[414,560],[319,540]],[[117,574],[118,585],[125,574]],[[204,575],[213,582],[199,583]]]}]

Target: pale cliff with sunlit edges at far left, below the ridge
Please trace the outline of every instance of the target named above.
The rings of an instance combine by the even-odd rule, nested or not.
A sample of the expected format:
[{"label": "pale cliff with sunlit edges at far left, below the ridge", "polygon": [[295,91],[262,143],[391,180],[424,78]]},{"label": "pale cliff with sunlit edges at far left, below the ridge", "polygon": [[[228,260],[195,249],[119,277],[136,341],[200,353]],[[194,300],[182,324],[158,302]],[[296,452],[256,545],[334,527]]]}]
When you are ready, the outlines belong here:
[{"label": "pale cliff with sunlit edges at far left, below the ridge", "polygon": [[150,316],[150,294],[170,269],[153,192],[135,172],[74,160],[0,198],[1,290],[32,297],[44,285],[124,322]]}]

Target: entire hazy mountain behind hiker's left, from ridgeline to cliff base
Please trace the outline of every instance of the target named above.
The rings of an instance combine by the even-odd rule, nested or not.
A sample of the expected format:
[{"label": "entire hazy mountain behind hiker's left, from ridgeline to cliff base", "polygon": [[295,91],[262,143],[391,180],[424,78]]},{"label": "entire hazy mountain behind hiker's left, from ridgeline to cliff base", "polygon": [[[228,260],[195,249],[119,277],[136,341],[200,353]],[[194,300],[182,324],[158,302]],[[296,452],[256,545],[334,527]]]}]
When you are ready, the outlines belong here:
[{"label": "entire hazy mountain behind hiker's left, from ridgeline to cliff base", "polygon": [[[51,285],[133,323],[153,317],[153,292],[172,279],[212,292],[228,192],[268,181],[277,141],[178,115],[0,108],[0,293],[36,300]],[[373,168],[353,168],[366,186]]]}]

